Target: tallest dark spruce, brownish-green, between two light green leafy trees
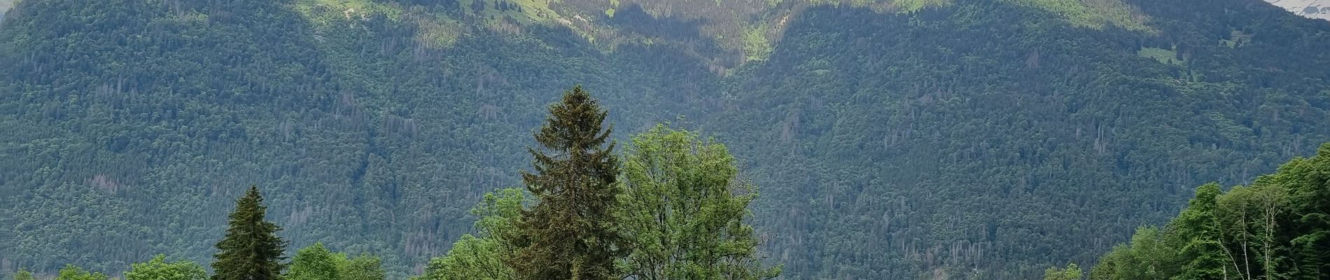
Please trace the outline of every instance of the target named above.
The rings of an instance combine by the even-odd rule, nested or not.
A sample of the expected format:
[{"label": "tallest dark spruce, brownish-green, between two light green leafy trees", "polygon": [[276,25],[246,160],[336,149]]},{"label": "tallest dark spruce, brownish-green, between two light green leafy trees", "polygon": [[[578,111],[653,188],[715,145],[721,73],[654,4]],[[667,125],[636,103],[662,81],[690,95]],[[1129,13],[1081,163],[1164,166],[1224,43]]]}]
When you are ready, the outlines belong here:
[{"label": "tallest dark spruce, brownish-green, between two light green leafy trees", "polygon": [[523,248],[505,261],[517,279],[617,276],[614,260],[626,249],[613,228],[618,162],[614,143],[605,146],[612,130],[601,129],[605,115],[596,100],[573,86],[549,107],[545,126],[535,134],[543,149],[528,149],[535,173],[523,171],[521,179],[539,202],[521,212]]}]

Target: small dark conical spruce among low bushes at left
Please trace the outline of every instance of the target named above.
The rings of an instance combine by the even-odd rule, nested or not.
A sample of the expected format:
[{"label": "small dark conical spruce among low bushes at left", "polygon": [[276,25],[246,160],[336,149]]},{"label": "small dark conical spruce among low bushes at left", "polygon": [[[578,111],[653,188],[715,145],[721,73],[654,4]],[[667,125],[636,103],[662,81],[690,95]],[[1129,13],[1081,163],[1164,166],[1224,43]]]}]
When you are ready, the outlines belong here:
[{"label": "small dark conical spruce among low bushes at left", "polygon": [[263,196],[257,186],[250,186],[245,196],[235,200],[230,215],[230,228],[217,243],[213,261],[213,280],[275,280],[282,271],[282,251],[286,242],[277,236],[282,230],[263,220]]}]

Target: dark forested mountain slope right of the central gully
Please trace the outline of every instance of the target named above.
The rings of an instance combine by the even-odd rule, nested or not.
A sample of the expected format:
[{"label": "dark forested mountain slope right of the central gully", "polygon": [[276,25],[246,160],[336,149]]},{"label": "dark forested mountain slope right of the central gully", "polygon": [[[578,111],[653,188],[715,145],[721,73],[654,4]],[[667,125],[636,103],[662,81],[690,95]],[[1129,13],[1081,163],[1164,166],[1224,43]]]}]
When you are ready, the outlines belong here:
[{"label": "dark forested mountain slope right of the central gully", "polygon": [[[810,12],[735,84],[742,109],[717,131],[751,141],[735,153],[770,174],[789,271],[1017,279],[1088,263],[1190,186],[1248,182],[1326,133],[1325,24],[1138,5],[1153,33],[1008,5]],[[1222,42],[1244,31],[1258,35]]]}]

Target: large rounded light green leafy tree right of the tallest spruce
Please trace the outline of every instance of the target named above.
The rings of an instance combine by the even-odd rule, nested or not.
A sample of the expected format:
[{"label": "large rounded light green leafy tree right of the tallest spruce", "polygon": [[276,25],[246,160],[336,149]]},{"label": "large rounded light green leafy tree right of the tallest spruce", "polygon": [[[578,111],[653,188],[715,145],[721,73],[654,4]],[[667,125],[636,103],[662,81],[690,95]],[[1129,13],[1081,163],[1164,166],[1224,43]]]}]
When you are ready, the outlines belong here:
[{"label": "large rounded light green leafy tree right of the tallest spruce", "polygon": [[757,198],[724,145],[658,125],[633,137],[624,158],[620,226],[634,279],[767,279],[745,223]]}]

